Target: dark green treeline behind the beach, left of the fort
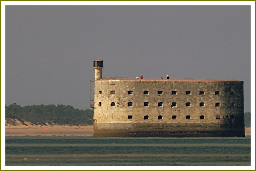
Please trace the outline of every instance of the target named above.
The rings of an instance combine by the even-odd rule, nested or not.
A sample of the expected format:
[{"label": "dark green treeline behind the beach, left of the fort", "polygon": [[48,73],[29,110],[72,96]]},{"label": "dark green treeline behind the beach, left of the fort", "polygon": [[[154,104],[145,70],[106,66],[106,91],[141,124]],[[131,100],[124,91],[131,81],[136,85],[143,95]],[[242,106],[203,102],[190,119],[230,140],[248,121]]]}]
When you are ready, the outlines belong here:
[{"label": "dark green treeline behind the beach, left of the fort", "polygon": [[92,125],[93,110],[75,109],[70,105],[31,105],[21,107],[16,103],[6,106],[6,118],[27,120],[34,124]]}]

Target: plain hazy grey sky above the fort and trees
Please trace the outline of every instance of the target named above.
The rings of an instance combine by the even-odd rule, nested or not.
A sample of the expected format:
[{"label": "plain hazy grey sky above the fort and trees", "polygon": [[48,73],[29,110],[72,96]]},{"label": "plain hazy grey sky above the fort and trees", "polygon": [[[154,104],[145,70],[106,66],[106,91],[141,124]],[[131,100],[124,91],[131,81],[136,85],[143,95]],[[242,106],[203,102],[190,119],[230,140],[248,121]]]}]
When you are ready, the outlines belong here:
[{"label": "plain hazy grey sky above the fort and trees", "polygon": [[90,107],[102,76],[237,79],[250,111],[250,6],[6,6],[6,105]]}]

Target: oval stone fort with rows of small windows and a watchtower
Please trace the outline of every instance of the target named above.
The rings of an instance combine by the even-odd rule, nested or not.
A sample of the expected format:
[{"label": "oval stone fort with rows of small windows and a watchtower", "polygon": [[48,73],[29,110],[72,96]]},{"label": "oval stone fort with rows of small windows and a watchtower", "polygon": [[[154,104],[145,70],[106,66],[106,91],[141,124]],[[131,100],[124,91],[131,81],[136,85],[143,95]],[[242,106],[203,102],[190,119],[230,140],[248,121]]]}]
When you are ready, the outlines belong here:
[{"label": "oval stone fort with rows of small windows and a watchtower", "polygon": [[244,137],[239,80],[102,78],[94,61],[94,137]]}]

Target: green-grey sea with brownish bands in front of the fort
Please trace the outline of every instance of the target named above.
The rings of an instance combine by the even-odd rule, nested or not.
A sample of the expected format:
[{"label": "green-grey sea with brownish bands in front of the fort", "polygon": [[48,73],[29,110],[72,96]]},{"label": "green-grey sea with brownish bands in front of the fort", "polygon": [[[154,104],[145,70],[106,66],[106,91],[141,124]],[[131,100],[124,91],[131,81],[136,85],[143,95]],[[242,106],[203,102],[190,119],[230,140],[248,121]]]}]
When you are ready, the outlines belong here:
[{"label": "green-grey sea with brownish bands in front of the fort", "polygon": [[6,137],[8,165],[250,165],[250,136],[233,138]]}]

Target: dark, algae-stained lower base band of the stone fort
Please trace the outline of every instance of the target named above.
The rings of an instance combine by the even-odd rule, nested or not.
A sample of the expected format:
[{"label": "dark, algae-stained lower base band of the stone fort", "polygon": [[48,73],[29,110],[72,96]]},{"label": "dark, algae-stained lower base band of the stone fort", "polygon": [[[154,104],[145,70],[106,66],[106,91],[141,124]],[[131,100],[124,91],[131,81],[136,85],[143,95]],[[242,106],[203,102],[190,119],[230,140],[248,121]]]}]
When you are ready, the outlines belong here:
[{"label": "dark, algae-stained lower base band of the stone fort", "polygon": [[[224,125],[222,125],[224,126]],[[94,124],[93,137],[245,137],[244,128],[215,124]]]}]

